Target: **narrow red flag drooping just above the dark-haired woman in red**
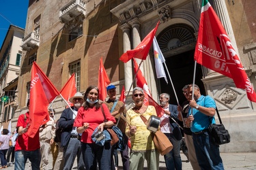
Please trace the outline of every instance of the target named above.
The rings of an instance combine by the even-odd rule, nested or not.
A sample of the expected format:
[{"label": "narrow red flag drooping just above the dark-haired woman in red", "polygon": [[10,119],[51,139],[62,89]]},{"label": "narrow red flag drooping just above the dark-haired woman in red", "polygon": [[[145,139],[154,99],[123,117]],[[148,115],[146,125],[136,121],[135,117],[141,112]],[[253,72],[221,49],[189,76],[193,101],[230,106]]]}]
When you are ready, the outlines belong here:
[{"label": "narrow red flag drooping just above the dark-haired woman in red", "polygon": [[102,58],[100,58],[100,68],[98,73],[98,88],[99,88],[99,99],[104,101],[106,99],[106,86],[110,84],[109,77],[106,74],[104,65],[102,64]]}]

